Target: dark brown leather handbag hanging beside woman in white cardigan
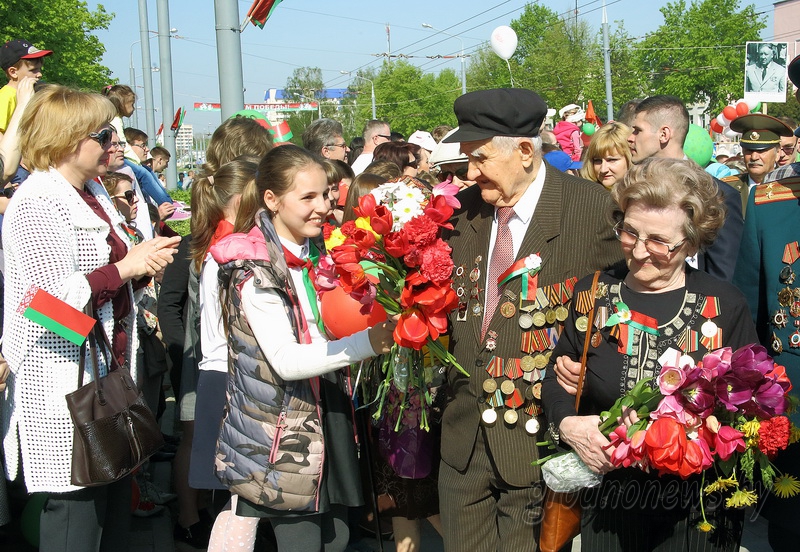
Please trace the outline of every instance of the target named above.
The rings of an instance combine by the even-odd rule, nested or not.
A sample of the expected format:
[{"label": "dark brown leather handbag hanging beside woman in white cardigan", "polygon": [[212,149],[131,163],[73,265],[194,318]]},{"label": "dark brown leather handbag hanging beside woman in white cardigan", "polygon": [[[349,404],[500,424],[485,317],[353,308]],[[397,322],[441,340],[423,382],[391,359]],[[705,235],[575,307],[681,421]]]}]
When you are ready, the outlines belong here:
[{"label": "dark brown leather handbag hanging beside woman in white cardigan", "polygon": [[[95,334],[102,336],[106,365],[113,369],[100,377]],[[94,381],[83,385],[86,342],[81,347],[78,389],[66,396],[75,425],[72,451],[72,484],[80,487],[106,485],[122,479],[141,466],[164,445],[164,437],[129,371],[121,368],[102,327],[95,324],[87,341],[92,355]]]}]

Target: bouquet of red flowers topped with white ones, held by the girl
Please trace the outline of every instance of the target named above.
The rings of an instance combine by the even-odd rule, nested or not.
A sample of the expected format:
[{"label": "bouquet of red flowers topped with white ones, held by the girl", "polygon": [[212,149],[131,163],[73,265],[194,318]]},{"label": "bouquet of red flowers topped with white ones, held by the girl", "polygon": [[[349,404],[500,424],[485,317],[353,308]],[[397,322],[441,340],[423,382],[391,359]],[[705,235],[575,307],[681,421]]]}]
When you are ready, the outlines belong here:
[{"label": "bouquet of red flowers topped with white ones, held by the girl", "polygon": [[[458,306],[452,250],[441,238],[442,228],[452,228],[448,220],[453,209],[460,206],[457,190],[445,184],[430,191],[411,178],[388,182],[359,200],[355,221],[326,238],[330,269],[338,278],[334,283],[358,300],[360,314],[377,303],[389,315],[399,315],[395,346],[382,359],[383,382],[372,399],[378,404],[376,419],[394,388],[401,412],[413,408],[410,395],[424,397],[414,420],[427,430],[434,368],[450,365],[466,375],[440,340],[448,314]],[[395,429],[407,419],[398,416]]]}]

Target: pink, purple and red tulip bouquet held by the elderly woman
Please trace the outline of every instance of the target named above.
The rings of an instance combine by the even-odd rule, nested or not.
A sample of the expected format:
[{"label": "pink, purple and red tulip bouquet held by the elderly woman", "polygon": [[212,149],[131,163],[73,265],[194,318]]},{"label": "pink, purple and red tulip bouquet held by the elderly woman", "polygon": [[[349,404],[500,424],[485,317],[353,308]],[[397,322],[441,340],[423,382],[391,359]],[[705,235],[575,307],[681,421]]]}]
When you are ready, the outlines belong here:
[{"label": "pink, purple and red tulip bouquet held by the elderly woman", "polygon": [[[785,415],[797,402],[792,384],[764,347],[724,347],[697,364],[671,349],[659,363],[657,378],[640,381],[600,416],[615,466],[683,479],[701,474],[703,493],[723,493],[728,508],[758,501],[758,472],[779,497],[800,492],[800,482],[771,462],[800,440],[800,430]],[[625,409],[639,417],[630,427],[617,421]],[[705,511],[698,529],[714,529]]]}]

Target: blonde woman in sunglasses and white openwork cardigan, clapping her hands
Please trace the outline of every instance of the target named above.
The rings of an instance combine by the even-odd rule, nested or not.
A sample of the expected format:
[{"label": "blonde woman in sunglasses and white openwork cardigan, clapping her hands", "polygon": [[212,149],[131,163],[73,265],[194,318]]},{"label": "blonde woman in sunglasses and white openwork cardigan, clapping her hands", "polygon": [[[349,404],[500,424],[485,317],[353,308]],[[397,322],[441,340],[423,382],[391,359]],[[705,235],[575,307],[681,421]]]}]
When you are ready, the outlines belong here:
[{"label": "blonde woman in sunglasses and white openwork cardigan, clapping her hands", "polygon": [[[99,94],[56,85],[37,92],[21,123],[21,147],[33,173],[11,199],[3,224],[3,355],[11,370],[2,404],[6,465],[11,478],[21,468],[28,492],[49,493],[40,516],[43,552],[127,550],[131,482],[72,484],[74,428],[64,396],[78,388],[85,351],[18,307],[34,286],[78,310],[90,305],[110,354],[135,378],[133,285],[172,262],[180,241],[155,238],[132,246],[96,181],[115,148],[114,115]],[[90,381],[92,358],[85,357],[84,381]],[[106,361],[98,358],[104,375]]]}]

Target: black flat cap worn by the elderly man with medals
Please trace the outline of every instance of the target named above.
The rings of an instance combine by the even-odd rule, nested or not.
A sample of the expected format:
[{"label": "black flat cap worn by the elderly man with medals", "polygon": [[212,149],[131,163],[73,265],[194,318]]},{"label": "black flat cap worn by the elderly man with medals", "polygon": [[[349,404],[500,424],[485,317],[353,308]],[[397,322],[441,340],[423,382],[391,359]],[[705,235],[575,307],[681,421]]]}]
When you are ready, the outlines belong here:
[{"label": "black flat cap worn by the elderly man with medals", "polygon": [[460,96],[453,110],[458,131],[444,142],[471,142],[494,136],[539,135],[547,104],[536,92],[524,88],[478,90]]}]

